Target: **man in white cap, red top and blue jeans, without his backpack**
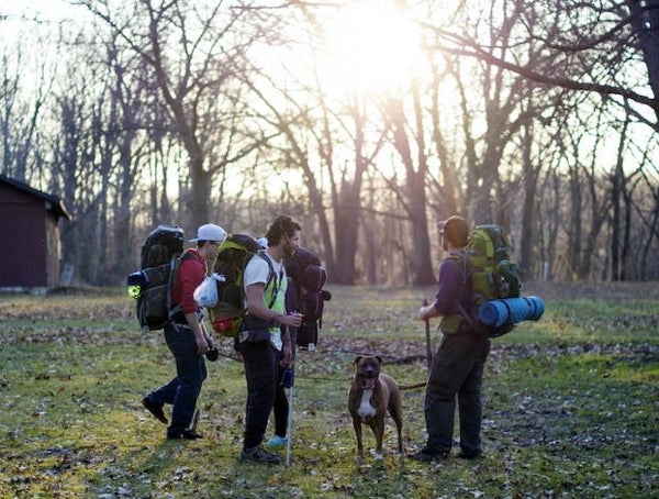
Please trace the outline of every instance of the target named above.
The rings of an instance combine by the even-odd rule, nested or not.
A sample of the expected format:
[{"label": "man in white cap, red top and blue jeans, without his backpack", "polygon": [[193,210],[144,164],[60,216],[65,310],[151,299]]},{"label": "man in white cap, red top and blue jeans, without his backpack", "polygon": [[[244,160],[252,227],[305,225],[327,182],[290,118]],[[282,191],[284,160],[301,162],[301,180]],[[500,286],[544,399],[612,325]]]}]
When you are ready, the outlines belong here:
[{"label": "man in white cap, red top and blue jeans, without his backpack", "polygon": [[165,386],[147,395],[142,403],[161,423],[167,424],[163,411],[165,403],[172,404],[171,423],[167,439],[201,439],[194,428],[190,428],[201,386],[206,378],[204,354],[210,347],[217,347],[202,321],[202,310],[197,307],[193,293],[212,268],[217,257],[217,247],[226,239],[220,225],[206,223],[197,230],[194,248],[186,250],[175,276],[171,301],[180,306],[165,325],[167,346],[176,358],[176,376]]}]

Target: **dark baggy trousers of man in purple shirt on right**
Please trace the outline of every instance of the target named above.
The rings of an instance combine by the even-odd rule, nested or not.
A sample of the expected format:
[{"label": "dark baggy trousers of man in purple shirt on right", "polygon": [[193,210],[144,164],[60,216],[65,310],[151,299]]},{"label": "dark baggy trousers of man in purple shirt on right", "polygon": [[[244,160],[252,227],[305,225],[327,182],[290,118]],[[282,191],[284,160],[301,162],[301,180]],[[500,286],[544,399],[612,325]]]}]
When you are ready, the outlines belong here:
[{"label": "dark baggy trousers of man in purple shirt on right", "polygon": [[457,396],[462,453],[481,452],[481,386],[489,353],[490,340],[470,331],[442,339],[433,357],[425,399],[427,446],[432,451],[450,451]]}]

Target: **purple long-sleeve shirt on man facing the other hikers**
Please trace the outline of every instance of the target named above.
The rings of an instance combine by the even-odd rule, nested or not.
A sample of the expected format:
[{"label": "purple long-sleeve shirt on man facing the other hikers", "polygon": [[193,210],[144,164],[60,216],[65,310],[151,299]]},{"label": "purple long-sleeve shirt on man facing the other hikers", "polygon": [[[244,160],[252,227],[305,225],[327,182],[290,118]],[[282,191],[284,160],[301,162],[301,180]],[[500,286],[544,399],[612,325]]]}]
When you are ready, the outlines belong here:
[{"label": "purple long-sleeve shirt on man facing the other hikers", "polygon": [[440,315],[465,315],[471,306],[471,285],[461,259],[446,258],[439,265],[435,308]]}]

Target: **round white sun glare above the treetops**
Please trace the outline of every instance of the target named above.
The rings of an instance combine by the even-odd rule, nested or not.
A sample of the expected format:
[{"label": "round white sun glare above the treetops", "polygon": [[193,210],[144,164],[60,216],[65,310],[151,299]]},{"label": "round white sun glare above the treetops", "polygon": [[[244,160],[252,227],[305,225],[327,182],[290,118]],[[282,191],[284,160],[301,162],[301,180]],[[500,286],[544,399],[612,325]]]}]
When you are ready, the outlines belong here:
[{"label": "round white sun glare above the treetops", "polygon": [[421,58],[417,29],[391,0],[346,7],[324,32],[324,80],[337,90],[396,90]]}]

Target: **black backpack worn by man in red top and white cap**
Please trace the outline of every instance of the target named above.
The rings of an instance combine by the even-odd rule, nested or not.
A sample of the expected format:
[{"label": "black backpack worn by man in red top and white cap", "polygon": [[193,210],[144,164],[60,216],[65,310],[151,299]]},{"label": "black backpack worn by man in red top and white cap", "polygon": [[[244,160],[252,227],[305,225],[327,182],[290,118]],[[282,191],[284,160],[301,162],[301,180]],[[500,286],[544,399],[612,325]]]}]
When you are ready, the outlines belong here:
[{"label": "black backpack worn by man in red top and white cap", "polygon": [[137,321],[143,331],[163,329],[177,313],[171,293],[185,255],[183,230],[177,225],[158,225],[142,245],[139,270],[129,276],[127,284],[131,296],[137,299]]}]

